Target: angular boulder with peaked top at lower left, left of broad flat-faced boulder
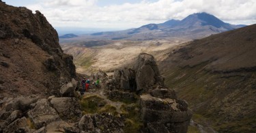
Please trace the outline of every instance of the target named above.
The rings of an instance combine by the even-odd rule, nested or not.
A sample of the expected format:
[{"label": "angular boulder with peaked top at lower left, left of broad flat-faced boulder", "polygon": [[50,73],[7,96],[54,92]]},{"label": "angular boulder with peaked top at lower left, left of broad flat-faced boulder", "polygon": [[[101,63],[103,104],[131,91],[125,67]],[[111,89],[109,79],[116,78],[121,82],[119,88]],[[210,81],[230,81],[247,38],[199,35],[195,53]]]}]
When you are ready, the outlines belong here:
[{"label": "angular boulder with peaked top at lower left, left of broad flat-faced boulder", "polygon": [[33,121],[37,129],[59,119],[56,110],[50,106],[46,99],[38,100],[38,102],[35,103],[35,107],[29,110],[27,115]]}]

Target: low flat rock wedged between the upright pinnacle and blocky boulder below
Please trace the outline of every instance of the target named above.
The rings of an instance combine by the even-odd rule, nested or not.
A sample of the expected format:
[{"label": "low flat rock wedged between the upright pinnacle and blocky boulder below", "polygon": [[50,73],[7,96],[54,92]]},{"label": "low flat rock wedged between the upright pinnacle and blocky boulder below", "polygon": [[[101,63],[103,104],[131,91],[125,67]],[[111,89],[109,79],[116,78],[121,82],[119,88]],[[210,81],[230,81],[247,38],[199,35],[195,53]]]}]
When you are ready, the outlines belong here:
[{"label": "low flat rock wedged between the upright pinnacle and blocky boulder below", "polygon": [[177,95],[172,89],[153,89],[150,94],[156,98],[177,99]]}]

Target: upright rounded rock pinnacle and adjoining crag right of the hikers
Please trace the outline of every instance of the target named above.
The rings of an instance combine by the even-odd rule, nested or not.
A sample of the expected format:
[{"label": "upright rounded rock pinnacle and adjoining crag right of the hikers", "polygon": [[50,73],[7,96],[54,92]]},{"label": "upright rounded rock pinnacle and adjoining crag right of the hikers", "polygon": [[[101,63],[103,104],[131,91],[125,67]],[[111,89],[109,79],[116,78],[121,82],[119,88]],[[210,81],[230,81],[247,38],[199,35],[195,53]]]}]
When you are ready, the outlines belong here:
[{"label": "upright rounded rock pinnacle and adjoining crag right of the hikers", "polygon": [[109,89],[148,92],[156,86],[164,86],[158,66],[152,55],[141,53],[133,68],[115,70],[112,79],[107,81]]}]

